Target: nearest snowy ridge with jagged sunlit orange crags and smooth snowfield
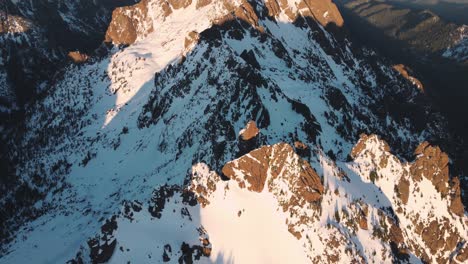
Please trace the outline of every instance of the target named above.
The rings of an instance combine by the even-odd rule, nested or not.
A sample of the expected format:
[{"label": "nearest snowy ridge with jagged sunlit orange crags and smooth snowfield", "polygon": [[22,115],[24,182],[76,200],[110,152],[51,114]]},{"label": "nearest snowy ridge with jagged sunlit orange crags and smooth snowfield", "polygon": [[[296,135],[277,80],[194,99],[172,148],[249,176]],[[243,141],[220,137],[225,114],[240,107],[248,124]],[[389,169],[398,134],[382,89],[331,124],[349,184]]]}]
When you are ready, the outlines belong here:
[{"label": "nearest snowy ridge with jagged sunlit orange crags and smooth snowfield", "polygon": [[[441,199],[434,186],[413,181],[409,164],[389,151],[379,137],[363,135],[354,161],[320,158],[324,185],[286,143],[228,162],[222,177],[229,180],[205,163],[194,164],[186,188],[162,186],[148,203],[126,203],[110,220],[112,236],[101,233],[91,249],[101,253],[91,259],[143,260],[146,252],[156,262],[182,263],[466,261],[467,217],[453,214],[450,198]],[[408,173],[391,178],[389,170]],[[181,230],[184,242],[163,228]],[[151,230],[157,246],[128,253],[141,247],[131,235],[138,230]],[[82,250],[75,260],[86,262]]]}]

